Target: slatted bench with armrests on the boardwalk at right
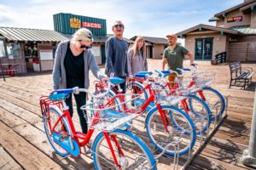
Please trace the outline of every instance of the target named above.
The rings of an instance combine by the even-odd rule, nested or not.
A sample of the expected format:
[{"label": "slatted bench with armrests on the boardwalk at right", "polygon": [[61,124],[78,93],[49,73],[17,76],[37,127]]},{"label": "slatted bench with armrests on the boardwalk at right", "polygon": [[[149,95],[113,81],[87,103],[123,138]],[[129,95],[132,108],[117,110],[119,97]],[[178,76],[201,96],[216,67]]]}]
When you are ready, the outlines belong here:
[{"label": "slatted bench with armrests on the boardwalk at right", "polygon": [[[241,62],[230,63],[230,87],[242,87],[245,89],[253,78],[253,69],[250,67],[241,67]],[[233,83],[232,83],[233,82]]]}]

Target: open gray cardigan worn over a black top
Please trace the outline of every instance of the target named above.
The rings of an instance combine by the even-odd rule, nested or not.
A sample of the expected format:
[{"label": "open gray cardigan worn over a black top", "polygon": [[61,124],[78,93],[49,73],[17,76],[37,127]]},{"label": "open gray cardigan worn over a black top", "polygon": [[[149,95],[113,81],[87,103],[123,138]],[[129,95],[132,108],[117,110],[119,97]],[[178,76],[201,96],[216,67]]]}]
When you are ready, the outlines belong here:
[{"label": "open gray cardigan worn over a black top", "polygon": [[[64,59],[67,53],[68,41],[63,41],[58,45],[55,52],[55,65],[53,69],[53,88],[67,88],[67,77],[64,66]],[[102,79],[104,75],[100,71],[94,54],[92,54],[90,49],[84,51],[84,88],[89,88],[89,71],[92,71],[93,75]]]}]

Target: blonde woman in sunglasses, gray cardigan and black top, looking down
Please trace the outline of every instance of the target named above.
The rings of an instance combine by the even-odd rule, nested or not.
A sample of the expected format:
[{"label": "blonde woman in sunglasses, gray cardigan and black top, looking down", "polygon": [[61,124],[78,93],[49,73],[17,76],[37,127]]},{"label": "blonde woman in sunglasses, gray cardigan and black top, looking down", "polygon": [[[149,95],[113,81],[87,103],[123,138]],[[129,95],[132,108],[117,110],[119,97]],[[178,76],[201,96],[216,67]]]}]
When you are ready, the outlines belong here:
[{"label": "blonde woman in sunglasses, gray cardigan and black top, looking down", "polygon": [[[101,73],[94,54],[91,52],[93,42],[92,33],[86,28],[81,28],[73,34],[70,41],[63,41],[55,52],[55,65],[53,70],[53,88],[89,88],[89,71],[102,80],[108,80]],[[83,111],[80,110],[86,103],[86,94],[74,94],[79,114],[80,125],[83,133],[87,133],[87,123]],[[66,99],[71,116],[73,116],[72,95]]]}]

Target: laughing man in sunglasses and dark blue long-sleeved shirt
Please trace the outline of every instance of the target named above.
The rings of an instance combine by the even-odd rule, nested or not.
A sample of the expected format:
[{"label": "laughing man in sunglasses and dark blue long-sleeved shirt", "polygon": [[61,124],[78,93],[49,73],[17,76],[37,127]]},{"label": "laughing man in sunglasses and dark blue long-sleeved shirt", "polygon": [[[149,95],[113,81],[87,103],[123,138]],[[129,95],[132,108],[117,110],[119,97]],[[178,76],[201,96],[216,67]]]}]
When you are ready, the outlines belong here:
[{"label": "laughing man in sunglasses and dark blue long-sleeved shirt", "polygon": [[[125,26],[122,21],[117,20],[112,26],[113,37],[109,37],[106,42],[106,74],[108,77],[118,76],[125,79],[128,75],[127,51],[128,42],[123,38]],[[125,83],[120,84],[125,94]]]}]

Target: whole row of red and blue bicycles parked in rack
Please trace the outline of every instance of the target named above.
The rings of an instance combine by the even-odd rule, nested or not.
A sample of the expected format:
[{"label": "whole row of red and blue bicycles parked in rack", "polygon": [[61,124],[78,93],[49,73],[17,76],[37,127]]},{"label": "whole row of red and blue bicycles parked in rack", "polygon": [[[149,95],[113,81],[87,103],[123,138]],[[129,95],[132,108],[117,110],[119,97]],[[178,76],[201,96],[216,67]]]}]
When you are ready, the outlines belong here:
[{"label": "whole row of red and blue bicycles parked in rack", "polygon": [[[177,76],[175,82],[167,81],[170,74]],[[90,153],[96,169],[157,169],[164,154],[176,161],[189,154],[211,123],[222,117],[226,101],[209,87],[214,78],[214,72],[200,72],[194,65],[178,71],[141,71],[126,80],[111,77],[108,83],[96,81],[94,92],[59,89],[40,99],[45,133],[63,157],[79,157],[81,147],[94,138]],[[125,94],[119,87],[124,82]],[[81,92],[91,96],[80,108],[87,134],[75,129],[65,103],[69,95]]]}]

